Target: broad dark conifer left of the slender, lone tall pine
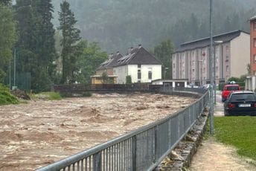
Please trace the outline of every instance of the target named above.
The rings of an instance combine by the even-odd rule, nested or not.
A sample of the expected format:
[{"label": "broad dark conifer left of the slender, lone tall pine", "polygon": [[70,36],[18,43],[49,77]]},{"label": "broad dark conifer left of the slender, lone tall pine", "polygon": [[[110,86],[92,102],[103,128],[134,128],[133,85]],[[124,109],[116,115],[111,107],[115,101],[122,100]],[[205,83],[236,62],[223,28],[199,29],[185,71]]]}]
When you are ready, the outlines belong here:
[{"label": "broad dark conifer left of the slender, lone tall pine", "polygon": [[19,30],[17,72],[31,74],[33,90],[48,90],[56,55],[51,0],[17,0],[15,8]]}]

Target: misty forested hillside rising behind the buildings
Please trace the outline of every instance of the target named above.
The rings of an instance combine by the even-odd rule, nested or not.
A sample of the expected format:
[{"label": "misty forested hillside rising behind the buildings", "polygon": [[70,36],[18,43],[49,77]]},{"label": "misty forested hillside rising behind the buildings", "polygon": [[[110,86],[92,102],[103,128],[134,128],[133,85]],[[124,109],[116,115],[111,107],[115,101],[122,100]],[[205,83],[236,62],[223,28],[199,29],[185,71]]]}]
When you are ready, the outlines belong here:
[{"label": "misty forested hillside rising behind the buildings", "polygon": [[[61,0],[53,1],[55,16]],[[214,0],[214,33],[249,30],[256,0]],[[81,36],[109,53],[142,44],[153,48],[163,39],[175,45],[209,35],[209,1],[72,0]],[[54,23],[58,25],[57,19]]]}]

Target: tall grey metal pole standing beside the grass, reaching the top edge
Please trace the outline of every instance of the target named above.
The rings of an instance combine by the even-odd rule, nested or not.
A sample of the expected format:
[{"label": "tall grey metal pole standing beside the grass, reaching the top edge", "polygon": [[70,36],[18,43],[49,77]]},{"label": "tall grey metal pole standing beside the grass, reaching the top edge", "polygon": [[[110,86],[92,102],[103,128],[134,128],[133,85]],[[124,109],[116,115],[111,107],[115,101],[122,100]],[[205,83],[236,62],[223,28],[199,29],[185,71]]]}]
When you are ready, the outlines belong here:
[{"label": "tall grey metal pole standing beside the grass, reaching the top edge", "polygon": [[212,36],[212,0],[210,0],[210,81],[211,81],[211,87],[210,87],[210,134],[214,135],[214,94],[213,94],[213,88],[214,88],[214,69],[213,69],[213,57],[214,57],[214,51],[213,51],[213,36]]}]

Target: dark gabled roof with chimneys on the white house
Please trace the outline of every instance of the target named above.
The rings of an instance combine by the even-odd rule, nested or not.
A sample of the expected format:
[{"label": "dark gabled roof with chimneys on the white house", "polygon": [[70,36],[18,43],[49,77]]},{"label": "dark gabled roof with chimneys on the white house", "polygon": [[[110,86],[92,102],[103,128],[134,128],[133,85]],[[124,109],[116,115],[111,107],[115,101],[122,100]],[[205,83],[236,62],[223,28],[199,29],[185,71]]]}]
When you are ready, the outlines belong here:
[{"label": "dark gabled roof with chimneys on the white house", "polygon": [[130,50],[129,54],[121,57],[114,63],[114,67],[121,65],[161,65],[159,59],[156,59],[152,54],[150,54],[143,47],[133,48]]}]

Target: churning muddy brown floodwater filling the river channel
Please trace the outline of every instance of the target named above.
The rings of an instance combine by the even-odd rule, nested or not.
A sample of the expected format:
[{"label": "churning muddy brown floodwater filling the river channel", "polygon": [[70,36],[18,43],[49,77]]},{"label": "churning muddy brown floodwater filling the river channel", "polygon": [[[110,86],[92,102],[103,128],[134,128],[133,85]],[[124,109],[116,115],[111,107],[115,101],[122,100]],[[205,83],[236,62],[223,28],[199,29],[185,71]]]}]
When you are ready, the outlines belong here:
[{"label": "churning muddy brown floodwater filling the river channel", "polygon": [[0,170],[35,170],[173,114],[195,100],[164,94],[93,94],[0,106]]}]

